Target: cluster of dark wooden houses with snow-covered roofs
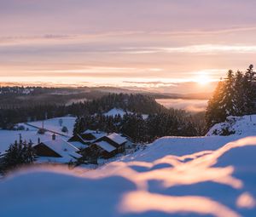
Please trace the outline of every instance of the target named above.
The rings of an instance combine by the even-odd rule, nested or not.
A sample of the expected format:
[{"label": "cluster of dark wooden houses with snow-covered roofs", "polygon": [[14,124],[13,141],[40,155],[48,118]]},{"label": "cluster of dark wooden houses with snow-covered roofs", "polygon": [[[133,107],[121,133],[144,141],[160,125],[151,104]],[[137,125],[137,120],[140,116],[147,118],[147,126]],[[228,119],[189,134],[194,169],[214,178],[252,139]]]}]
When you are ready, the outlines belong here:
[{"label": "cluster of dark wooden houses with snow-covered roofs", "polygon": [[40,141],[33,148],[41,161],[69,163],[90,158],[110,158],[123,153],[134,146],[133,141],[124,134],[97,130],[86,130],[82,134],[75,134],[69,140],[56,139]]}]

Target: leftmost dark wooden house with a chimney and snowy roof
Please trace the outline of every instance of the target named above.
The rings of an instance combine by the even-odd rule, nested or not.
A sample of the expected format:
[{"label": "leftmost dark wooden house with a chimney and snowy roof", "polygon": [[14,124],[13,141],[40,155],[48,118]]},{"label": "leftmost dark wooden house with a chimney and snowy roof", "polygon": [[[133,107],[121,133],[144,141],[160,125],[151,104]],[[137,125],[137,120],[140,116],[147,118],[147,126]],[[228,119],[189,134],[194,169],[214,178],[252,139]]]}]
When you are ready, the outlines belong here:
[{"label": "leftmost dark wooden house with a chimney and snowy roof", "polygon": [[69,163],[82,157],[78,153],[79,149],[72,144],[62,139],[55,140],[55,134],[53,134],[52,140],[40,142],[33,148],[38,157],[50,162]]}]

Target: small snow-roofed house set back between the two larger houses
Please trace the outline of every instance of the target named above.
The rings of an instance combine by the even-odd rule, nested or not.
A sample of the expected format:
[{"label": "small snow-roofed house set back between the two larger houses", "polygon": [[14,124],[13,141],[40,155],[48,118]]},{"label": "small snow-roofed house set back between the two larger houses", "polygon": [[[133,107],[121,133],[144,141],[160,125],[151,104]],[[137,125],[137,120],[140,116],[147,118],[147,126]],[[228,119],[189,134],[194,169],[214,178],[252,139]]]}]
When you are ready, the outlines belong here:
[{"label": "small snow-roofed house set back between the two larger houses", "polygon": [[98,140],[105,135],[107,134],[102,131],[87,129],[82,134],[73,135],[68,142],[79,149],[84,149],[90,146],[90,144],[92,144],[95,140]]}]

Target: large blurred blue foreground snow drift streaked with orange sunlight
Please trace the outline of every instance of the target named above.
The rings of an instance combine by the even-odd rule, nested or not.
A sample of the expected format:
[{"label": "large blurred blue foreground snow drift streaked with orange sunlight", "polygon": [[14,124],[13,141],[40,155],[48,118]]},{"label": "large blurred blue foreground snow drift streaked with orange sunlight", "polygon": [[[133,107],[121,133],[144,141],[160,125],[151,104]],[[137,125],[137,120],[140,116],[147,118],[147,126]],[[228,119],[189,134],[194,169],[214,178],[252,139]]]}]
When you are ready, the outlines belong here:
[{"label": "large blurred blue foreground snow drift streaked with orange sunlight", "polygon": [[91,171],[13,174],[0,182],[1,216],[256,216],[256,137],[183,155],[168,155],[164,140],[145,152],[166,155],[145,161],[141,153]]}]

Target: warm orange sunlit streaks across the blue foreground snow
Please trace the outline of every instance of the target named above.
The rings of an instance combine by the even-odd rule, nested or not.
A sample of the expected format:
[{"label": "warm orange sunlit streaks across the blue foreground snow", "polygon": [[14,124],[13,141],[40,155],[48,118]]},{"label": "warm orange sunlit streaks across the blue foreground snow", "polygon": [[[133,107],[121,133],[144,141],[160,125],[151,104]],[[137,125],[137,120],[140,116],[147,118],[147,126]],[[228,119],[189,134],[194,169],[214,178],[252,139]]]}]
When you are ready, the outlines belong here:
[{"label": "warm orange sunlit streaks across the blue foreground snow", "polygon": [[[80,177],[85,180],[102,180],[108,177],[122,177],[130,180],[137,186],[136,191],[128,191],[122,195],[119,203],[119,214],[143,214],[150,211],[158,211],[166,214],[193,213],[210,214],[216,217],[238,217],[241,216],[233,210],[237,208],[255,208],[256,202],[251,192],[245,189],[243,180],[234,176],[237,165],[246,158],[241,159],[229,156],[237,148],[248,148],[256,146],[256,137],[247,137],[236,140],[219,148],[217,151],[200,151],[195,154],[182,157],[166,156],[161,157],[151,163],[147,162],[113,162],[96,170],[86,170],[84,168],[67,169],[63,166],[42,166],[32,168],[33,171],[52,171],[58,174],[68,174]],[[247,152],[243,152],[247,155]],[[222,166],[223,161],[226,166]],[[224,161],[224,162],[225,162]],[[219,165],[220,163],[220,165]],[[250,162],[252,163],[252,162]],[[253,165],[248,164],[248,168]],[[23,170],[20,173],[27,173]],[[15,174],[17,175],[17,174]],[[172,193],[162,194],[158,191],[149,191],[150,183],[156,180],[162,189],[172,189],[174,186],[192,186],[199,183],[216,183],[220,186],[229,186],[234,191],[244,191],[240,193],[234,207],[230,208],[221,201],[221,197],[211,196],[172,196]],[[102,182],[104,183],[104,182]],[[210,189],[208,190],[210,191]]]}]

